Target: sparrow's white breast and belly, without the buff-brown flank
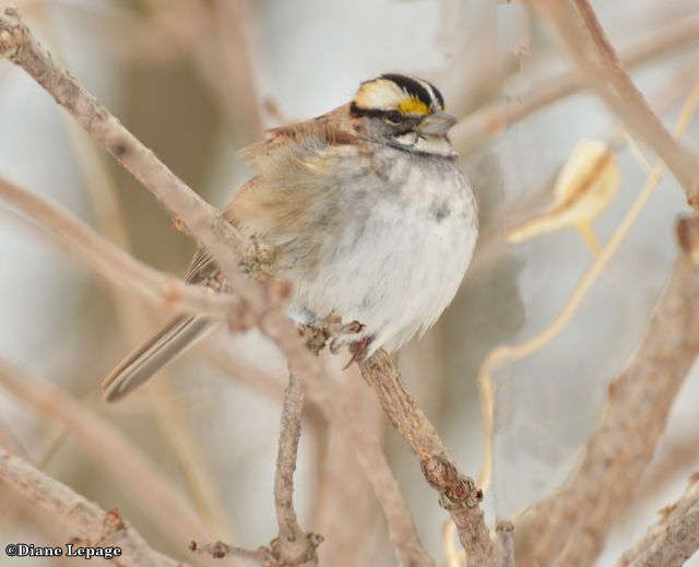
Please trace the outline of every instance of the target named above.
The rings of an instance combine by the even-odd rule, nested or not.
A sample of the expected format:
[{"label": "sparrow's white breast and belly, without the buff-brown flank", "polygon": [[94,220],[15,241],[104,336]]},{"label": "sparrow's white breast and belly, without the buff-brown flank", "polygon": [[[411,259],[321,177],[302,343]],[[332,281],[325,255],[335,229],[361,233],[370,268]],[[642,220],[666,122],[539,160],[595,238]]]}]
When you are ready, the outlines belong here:
[{"label": "sparrow's white breast and belly, without the buff-brown flank", "polygon": [[334,220],[337,239],[323,247],[312,277],[297,274],[294,282],[292,318],[358,321],[365,328],[353,339],[371,336],[368,354],[400,347],[439,318],[477,237],[475,199],[455,165],[426,160],[407,173],[403,163],[389,168],[382,194],[362,185],[347,190]]}]

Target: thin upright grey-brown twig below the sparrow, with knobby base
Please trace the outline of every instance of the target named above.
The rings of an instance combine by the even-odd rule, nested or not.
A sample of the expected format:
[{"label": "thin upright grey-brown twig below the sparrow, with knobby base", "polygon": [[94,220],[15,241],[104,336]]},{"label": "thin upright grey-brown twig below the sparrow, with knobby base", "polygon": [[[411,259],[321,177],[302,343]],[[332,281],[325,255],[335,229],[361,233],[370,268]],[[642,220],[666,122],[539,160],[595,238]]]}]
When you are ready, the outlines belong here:
[{"label": "thin upright grey-brown twig below the sparrow, with knobby base", "polygon": [[298,454],[304,413],[304,382],[293,371],[284,392],[280,442],[274,473],[274,506],[280,527],[279,536],[272,541],[272,554],[282,565],[318,565],[316,550],[323,541],[315,533],[305,533],[298,525],[294,509],[294,471]]}]

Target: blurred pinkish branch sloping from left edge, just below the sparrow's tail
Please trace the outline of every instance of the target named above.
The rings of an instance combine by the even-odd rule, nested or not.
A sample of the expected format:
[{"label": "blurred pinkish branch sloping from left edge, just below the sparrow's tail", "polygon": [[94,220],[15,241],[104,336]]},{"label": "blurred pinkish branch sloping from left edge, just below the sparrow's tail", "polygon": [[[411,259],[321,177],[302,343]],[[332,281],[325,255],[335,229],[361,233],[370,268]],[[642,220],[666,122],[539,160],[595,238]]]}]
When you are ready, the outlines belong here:
[{"label": "blurred pinkish branch sloping from left edge, just below the sparrow's tail", "polygon": [[142,509],[170,541],[181,543],[192,536],[206,536],[209,530],[192,512],[191,506],[109,423],[55,386],[42,383],[2,359],[0,387],[27,403],[37,414],[62,425],[126,494],[144,504]]}]

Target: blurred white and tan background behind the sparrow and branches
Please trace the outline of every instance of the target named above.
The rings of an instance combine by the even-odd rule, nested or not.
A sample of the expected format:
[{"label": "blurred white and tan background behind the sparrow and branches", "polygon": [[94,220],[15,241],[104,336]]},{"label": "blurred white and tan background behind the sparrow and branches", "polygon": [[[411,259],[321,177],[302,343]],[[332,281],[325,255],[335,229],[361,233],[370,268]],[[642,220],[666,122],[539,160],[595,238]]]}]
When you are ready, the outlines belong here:
[{"label": "blurred white and tan background behind the sparrow and branches", "polygon": [[[462,470],[477,476],[484,447],[481,364],[496,346],[521,343],[549,324],[594,260],[572,228],[518,245],[505,237],[553,202],[556,175],[580,140],[618,138],[614,116],[593,95],[541,97],[571,69],[546,22],[524,2],[493,0],[14,4],[52,56],[215,205],[250,176],[237,151],[261,139],[264,128],[344,104],[360,81],[383,72],[420,75],[439,86],[448,110],[463,119],[452,139],[478,197],[482,238],[451,307],[399,361]],[[671,125],[699,81],[696,2],[594,5],[621,54],[638,55],[645,47],[632,61],[632,76]],[[694,34],[673,33],[687,22],[695,22]],[[665,43],[652,44],[655,37]],[[517,108],[531,111],[503,111]],[[697,123],[685,134],[695,149]],[[633,152],[624,143],[613,147],[620,181],[593,224],[602,243],[645,181]],[[652,152],[639,150],[654,163]],[[193,241],[173,229],[151,194],[46,92],[7,62],[0,64],[0,176],[59,202],[157,269],[180,274],[188,265]],[[685,209],[680,188],[666,174],[560,334],[494,374],[494,475],[484,500],[490,522],[516,517],[574,466],[600,417],[605,388],[642,336],[670,273],[676,256],[673,222]],[[186,552],[186,535],[167,523],[173,518],[155,498],[149,500],[143,486],[150,481],[125,459],[145,454],[155,479],[185,498],[220,539],[257,547],[274,536],[272,485],[285,365],[257,333],[222,329],[153,383],[107,405],[100,400],[102,379],[167,314],[115,290],[2,203],[0,308],[0,356],[39,388],[59,387],[98,417],[99,435],[103,428],[116,432],[126,445],[115,456],[109,442],[75,434],[2,383],[0,444],[102,508],[117,507],[154,547],[174,557],[197,560]],[[447,513],[417,461],[387,426],[355,369],[340,370],[344,355],[324,361],[383,439],[419,535],[443,562]],[[600,565],[613,563],[642,535],[697,469],[697,395],[699,376],[692,373],[647,471],[643,482],[652,489],[638,491]],[[312,412],[304,427],[296,501],[301,525],[325,535],[321,565],[396,565],[380,509],[351,451]],[[2,542],[64,543],[56,525],[2,487],[0,501]],[[0,554],[0,565],[5,564],[13,562]]]}]

